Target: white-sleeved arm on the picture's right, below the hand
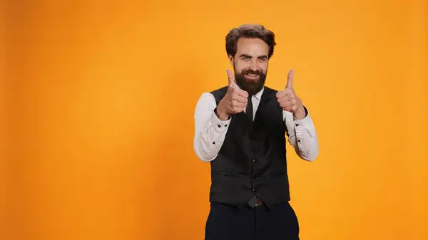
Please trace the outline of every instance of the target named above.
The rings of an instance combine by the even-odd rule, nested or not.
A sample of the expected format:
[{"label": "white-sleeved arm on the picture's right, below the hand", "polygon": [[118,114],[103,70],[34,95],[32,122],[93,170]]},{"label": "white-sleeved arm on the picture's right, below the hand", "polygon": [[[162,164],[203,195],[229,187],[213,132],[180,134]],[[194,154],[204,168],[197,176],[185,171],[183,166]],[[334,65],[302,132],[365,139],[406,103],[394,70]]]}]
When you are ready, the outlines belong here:
[{"label": "white-sleeved arm on the picture's right, below the hand", "polygon": [[287,111],[283,111],[283,116],[287,127],[288,142],[297,155],[310,162],[315,160],[319,153],[318,137],[309,113],[301,120],[297,120],[292,113]]}]

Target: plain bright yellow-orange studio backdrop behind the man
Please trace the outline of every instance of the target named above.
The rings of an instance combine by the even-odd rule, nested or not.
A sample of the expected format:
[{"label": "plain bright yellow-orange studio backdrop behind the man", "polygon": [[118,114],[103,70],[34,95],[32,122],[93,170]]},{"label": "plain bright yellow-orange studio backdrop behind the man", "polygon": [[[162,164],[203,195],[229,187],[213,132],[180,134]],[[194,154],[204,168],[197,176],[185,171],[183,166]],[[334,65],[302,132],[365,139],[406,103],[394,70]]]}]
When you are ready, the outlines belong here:
[{"label": "plain bright yellow-orange studio backdrop behind the man", "polygon": [[427,1],[1,6],[0,239],[203,239],[193,113],[245,23],[275,31],[267,85],[294,68],[319,135],[315,162],[288,154],[301,239],[428,239]]}]

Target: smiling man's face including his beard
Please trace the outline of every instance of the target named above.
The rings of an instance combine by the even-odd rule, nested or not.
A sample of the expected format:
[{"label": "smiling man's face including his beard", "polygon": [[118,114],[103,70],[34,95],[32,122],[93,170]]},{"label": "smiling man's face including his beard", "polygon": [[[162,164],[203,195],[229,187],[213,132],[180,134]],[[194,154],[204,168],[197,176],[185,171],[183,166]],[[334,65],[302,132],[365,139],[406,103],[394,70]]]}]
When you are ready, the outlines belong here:
[{"label": "smiling man's face including his beard", "polygon": [[240,38],[235,57],[230,56],[236,83],[249,95],[255,95],[265,85],[268,53],[269,46],[260,38]]}]

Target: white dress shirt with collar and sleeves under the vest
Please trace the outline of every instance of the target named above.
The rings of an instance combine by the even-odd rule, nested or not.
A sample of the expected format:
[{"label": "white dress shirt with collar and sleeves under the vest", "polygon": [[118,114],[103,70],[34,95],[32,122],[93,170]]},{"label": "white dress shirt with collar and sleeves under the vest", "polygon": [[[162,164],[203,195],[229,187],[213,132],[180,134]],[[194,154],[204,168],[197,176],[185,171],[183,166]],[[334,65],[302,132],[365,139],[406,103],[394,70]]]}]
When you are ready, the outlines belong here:
[{"label": "white dress shirt with collar and sleeves under the vest", "polygon": [[[257,114],[263,90],[264,88],[251,97],[253,119]],[[215,98],[211,93],[203,93],[195,108],[193,149],[198,158],[204,162],[210,162],[217,157],[231,120],[231,118],[225,121],[220,120],[214,113],[215,108],[217,108],[217,103],[215,103]],[[287,134],[288,142],[295,149],[297,155],[303,160],[315,160],[318,156],[318,139],[309,113],[302,120],[295,119],[292,113],[285,110],[282,111],[282,115],[287,127],[284,134]]]}]

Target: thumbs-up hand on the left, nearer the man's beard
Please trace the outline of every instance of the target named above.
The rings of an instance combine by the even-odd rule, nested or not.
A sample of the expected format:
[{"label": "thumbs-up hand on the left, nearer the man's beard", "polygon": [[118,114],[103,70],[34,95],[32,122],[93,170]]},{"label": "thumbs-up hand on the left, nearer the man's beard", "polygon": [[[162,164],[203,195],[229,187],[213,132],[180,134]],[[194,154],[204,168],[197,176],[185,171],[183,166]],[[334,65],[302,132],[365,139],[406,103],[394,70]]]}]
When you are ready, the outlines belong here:
[{"label": "thumbs-up hand on the left, nearer the man's beard", "polygon": [[218,103],[216,113],[218,118],[223,121],[228,120],[230,114],[240,113],[245,110],[248,102],[248,93],[236,85],[232,71],[227,69],[226,72],[229,78],[228,92]]}]

